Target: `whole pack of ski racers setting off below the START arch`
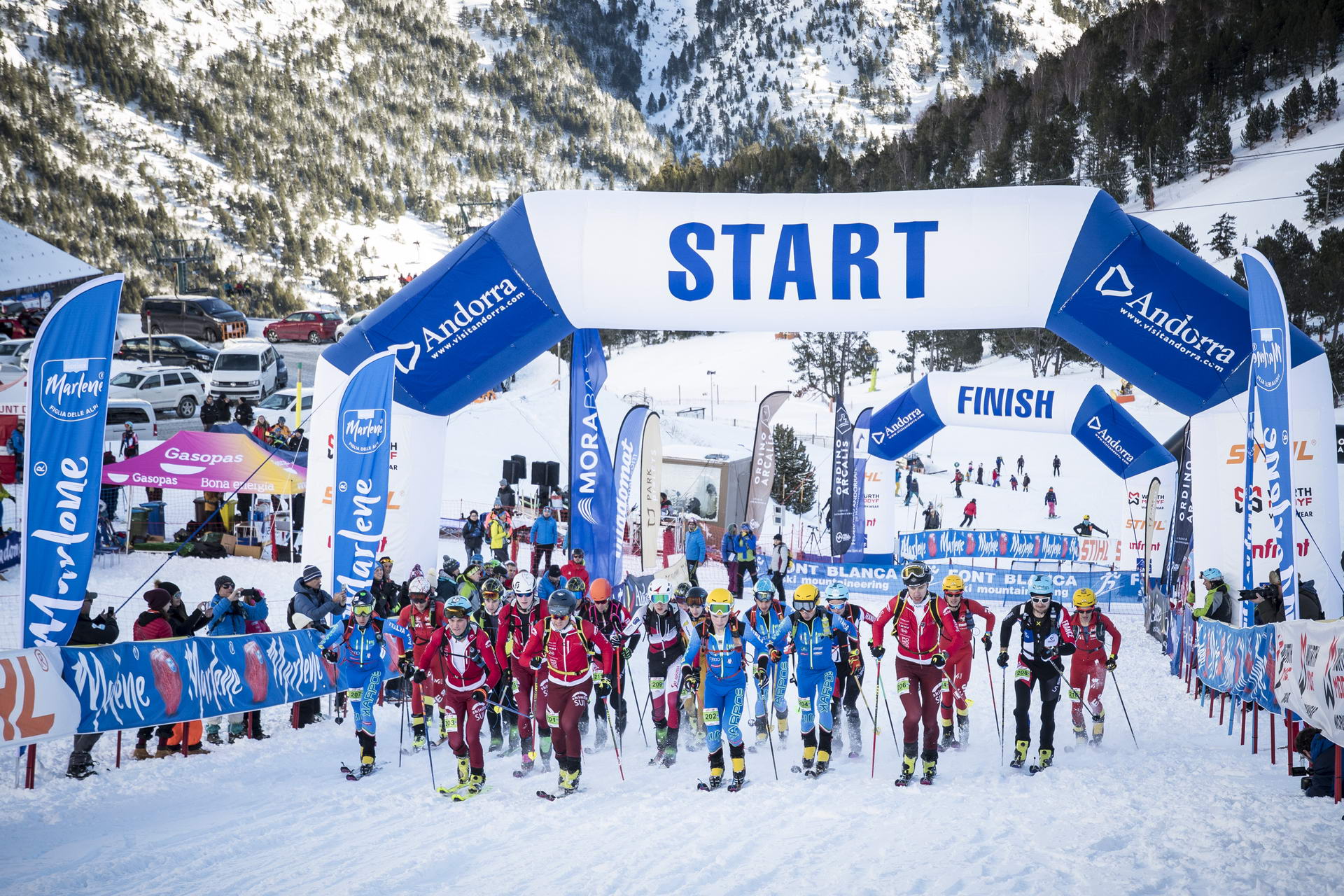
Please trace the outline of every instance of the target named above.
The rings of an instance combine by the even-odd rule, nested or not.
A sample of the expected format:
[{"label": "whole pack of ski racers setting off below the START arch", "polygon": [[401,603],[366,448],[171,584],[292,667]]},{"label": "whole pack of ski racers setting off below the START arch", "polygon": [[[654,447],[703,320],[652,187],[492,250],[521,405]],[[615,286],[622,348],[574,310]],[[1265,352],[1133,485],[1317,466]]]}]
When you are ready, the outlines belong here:
[{"label": "whole pack of ski racers setting off below the START arch", "polygon": [[[985,650],[986,669],[993,653],[995,614],[965,595],[957,574],[942,579],[941,592],[931,590],[933,571],[918,562],[902,568],[903,587],[876,617],[851,603],[841,583],[824,592],[802,583],[786,603],[774,583],[761,578],[750,592],[751,606],[739,613],[727,588],[707,591],[656,579],[632,613],[614,599],[606,579],[589,583],[575,575],[556,586],[554,567],[550,582],[539,582],[493,560],[473,566],[480,566],[478,575],[460,576],[461,588],[444,588],[441,578],[437,595],[427,579],[413,579],[409,602],[395,619],[378,617],[374,595],[358,591],[348,614],[323,638],[324,657],[336,664],[337,686],[353,709],[360,764],[345,768],[351,779],[376,768],[374,705],[395,664],[407,682],[401,697],[409,705],[413,732],[411,748],[403,752],[427,748],[433,759],[433,748],[446,742],[456,759],[457,782],[439,786],[439,793],[461,801],[485,790],[481,733],[488,727],[489,752],[520,755],[517,778],[534,772],[538,763],[550,771],[554,756],[558,793],[540,790],[538,795],[567,797],[579,787],[585,752],[602,750],[609,737],[620,746],[629,717],[628,669],[637,653],[648,662],[648,707],[657,744],[650,766],[671,767],[679,750],[703,747],[710,772],[698,787],[715,790],[727,779],[727,790],[739,790],[746,783],[747,751],[769,747],[773,754],[775,744],[786,747],[786,690],[794,684],[802,755],[792,770],[816,778],[841,747],[836,725],[841,715],[851,759],[863,752],[860,700],[878,723],[863,692],[867,662],[860,626],[867,625],[883,699],[880,662],[888,645],[895,653],[895,693],[905,709],[895,783],[909,785],[922,760],[919,783],[931,785],[939,752],[969,743],[966,684],[976,642]],[[445,598],[444,591],[453,592]],[[984,622],[978,637],[976,617]],[[1070,611],[1054,599],[1050,576],[1032,576],[1028,599],[1005,614],[997,641],[1001,688],[1009,646],[1015,642],[1017,650],[1012,767],[1023,768],[1031,747],[1034,688],[1040,724],[1030,770],[1054,760],[1066,657],[1075,740],[1099,744],[1105,728],[1101,695],[1106,672],[1116,668],[1121,637],[1097,609],[1097,595],[1078,588]],[[749,696],[754,697],[750,746],[743,733]],[[595,737],[585,750],[590,711]]]}]

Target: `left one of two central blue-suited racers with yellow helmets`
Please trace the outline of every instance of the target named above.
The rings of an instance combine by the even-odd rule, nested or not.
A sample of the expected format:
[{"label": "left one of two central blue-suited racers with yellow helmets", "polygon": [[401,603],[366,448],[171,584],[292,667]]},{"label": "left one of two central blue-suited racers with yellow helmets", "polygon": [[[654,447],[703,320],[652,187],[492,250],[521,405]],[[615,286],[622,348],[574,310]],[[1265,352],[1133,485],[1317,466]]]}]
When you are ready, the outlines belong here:
[{"label": "left one of two central blue-suited racers with yellow helmets", "polygon": [[[766,650],[766,642],[732,615],[732,592],[715,588],[706,598],[708,614],[691,629],[691,642],[681,664],[681,680],[704,684],[706,746],[710,751],[710,782],[703,790],[714,790],[723,783],[723,740],[728,742],[732,759],[732,783],[728,790],[742,789],[747,778],[746,748],[742,743],[742,708],[746,705],[747,676],[743,641],[757,652]],[[766,672],[757,666],[757,677]]]}]

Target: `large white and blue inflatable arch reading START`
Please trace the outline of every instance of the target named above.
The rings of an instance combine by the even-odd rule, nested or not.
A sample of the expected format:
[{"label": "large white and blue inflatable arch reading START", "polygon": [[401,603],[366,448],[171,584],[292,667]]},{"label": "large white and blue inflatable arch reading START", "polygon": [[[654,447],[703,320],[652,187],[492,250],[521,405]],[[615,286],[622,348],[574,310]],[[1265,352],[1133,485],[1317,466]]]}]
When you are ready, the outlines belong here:
[{"label": "large white and blue inflatable arch reading START", "polygon": [[[437,555],[434,467],[446,433],[422,418],[452,414],[590,326],[1044,326],[1188,415],[1235,407],[1251,351],[1245,290],[1097,189],[530,193],[319,364],[325,411],[323,399],[363,359],[396,352],[388,544],[398,557]],[[1324,403],[1294,418],[1297,431],[1320,439],[1322,457],[1333,441],[1324,356],[1298,332],[1292,355],[1294,395],[1305,386]],[[323,411],[313,426],[319,438],[332,431]],[[329,458],[313,451],[312,462],[310,482],[329,488]],[[1320,547],[1337,557],[1335,492],[1318,493],[1316,528],[1332,532]],[[329,513],[310,501],[309,529],[329,531]],[[308,548],[321,566],[321,545]]]}]

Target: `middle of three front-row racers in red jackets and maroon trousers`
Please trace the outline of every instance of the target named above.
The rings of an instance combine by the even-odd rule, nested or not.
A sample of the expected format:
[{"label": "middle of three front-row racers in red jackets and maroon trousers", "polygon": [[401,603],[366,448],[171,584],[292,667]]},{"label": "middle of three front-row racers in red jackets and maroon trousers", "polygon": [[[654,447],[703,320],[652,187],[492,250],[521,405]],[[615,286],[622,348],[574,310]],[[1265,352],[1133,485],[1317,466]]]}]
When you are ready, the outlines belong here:
[{"label": "middle of three front-row racers in red jackets and maroon trousers", "polygon": [[[552,591],[547,600],[550,614],[532,626],[523,647],[523,662],[544,669],[546,724],[555,743],[555,762],[560,767],[562,794],[578,790],[583,772],[583,743],[579,739],[579,716],[595,688],[599,696],[610,693],[612,643],[591,622],[574,617],[579,598],[569,590]],[[595,669],[595,670],[594,670]]]}]

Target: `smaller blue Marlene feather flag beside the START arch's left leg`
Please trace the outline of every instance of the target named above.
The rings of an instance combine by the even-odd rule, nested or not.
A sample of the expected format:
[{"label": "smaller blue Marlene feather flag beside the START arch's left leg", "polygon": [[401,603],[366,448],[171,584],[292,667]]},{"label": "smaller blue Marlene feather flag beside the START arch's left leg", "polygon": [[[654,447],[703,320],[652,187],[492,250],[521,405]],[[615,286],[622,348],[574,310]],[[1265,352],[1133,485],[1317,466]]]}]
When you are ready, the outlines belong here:
[{"label": "smaller blue Marlene feather flag beside the START arch's left leg", "polygon": [[345,383],[337,406],[332,578],[347,591],[372,584],[382,548],[395,364],[391,352],[363,361]]}]

